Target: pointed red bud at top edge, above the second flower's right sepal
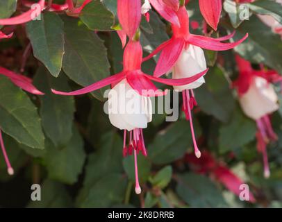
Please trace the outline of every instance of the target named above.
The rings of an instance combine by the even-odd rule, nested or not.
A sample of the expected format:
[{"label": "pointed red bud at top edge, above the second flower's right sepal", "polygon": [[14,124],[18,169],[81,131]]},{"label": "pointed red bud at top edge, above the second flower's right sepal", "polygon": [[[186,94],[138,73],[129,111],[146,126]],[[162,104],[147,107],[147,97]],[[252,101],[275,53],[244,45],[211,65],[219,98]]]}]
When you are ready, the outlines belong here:
[{"label": "pointed red bud at top edge, above the second flower's right sepal", "polygon": [[216,31],[222,13],[222,0],[199,0],[201,15],[206,22]]}]

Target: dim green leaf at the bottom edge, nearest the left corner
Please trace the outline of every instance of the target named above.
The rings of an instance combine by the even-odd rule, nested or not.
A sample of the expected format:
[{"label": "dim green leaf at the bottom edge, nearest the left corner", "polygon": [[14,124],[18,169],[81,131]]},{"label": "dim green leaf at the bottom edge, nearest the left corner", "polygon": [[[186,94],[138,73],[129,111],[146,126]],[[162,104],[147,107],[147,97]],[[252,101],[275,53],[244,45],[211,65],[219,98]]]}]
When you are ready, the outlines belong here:
[{"label": "dim green leaf at the bottom edge, nearest the left corner", "polygon": [[28,208],[72,207],[72,198],[59,182],[45,180],[41,185],[41,200],[31,201]]}]

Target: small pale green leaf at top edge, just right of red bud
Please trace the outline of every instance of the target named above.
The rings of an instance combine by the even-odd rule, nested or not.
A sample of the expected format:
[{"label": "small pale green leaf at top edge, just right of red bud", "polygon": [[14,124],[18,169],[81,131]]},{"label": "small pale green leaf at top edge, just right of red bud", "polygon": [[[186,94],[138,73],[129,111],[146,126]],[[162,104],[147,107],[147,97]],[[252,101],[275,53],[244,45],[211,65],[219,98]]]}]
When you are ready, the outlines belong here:
[{"label": "small pale green leaf at top edge, just right of red bud", "polygon": [[244,21],[243,19],[240,19],[240,13],[242,12],[240,4],[235,1],[225,0],[223,8],[228,13],[232,26],[234,28],[238,28],[238,26],[240,26],[240,24]]}]

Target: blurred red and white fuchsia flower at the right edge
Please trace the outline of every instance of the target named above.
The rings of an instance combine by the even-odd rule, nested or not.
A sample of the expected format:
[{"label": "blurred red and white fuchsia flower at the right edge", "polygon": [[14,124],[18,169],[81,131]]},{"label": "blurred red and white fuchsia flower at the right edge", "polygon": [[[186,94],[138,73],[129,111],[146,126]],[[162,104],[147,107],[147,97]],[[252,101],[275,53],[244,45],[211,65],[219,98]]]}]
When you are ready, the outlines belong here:
[{"label": "blurred red and white fuchsia flower at the right edge", "polygon": [[236,55],[239,77],[233,86],[239,94],[239,101],[244,114],[254,119],[258,127],[257,149],[263,154],[264,175],[269,177],[269,165],[266,146],[269,141],[276,141],[269,114],[279,109],[278,97],[271,83],[282,80],[276,71],[254,70],[251,63]]}]

